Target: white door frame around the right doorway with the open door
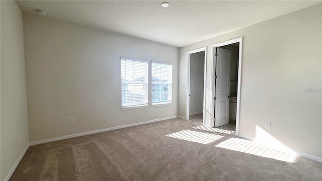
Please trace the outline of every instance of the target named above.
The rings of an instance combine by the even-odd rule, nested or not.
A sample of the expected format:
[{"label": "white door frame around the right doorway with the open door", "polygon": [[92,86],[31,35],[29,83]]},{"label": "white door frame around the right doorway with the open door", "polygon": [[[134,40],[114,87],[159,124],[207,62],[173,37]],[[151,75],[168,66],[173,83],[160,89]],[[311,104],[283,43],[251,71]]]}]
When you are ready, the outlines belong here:
[{"label": "white door frame around the right doorway with the open door", "polygon": [[[238,55],[238,82],[237,82],[237,110],[236,110],[236,129],[235,129],[235,135],[238,136],[239,133],[239,111],[240,111],[240,85],[241,85],[241,57],[242,57],[242,53],[243,53],[243,37],[240,38],[236,38],[236,39],[232,39],[232,40],[228,40],[228,41],[224,41],[221,43],[216,43],[213,44],[211,47],[211,51],[212,51],[212,66],[211,66],[211,72],[212,72],[212,95],[215,95],[215,70],[216,70],[216,56],[214,56],[214,53],[216,53],[216,48],[217,47],[221,47],[221,46],[225,46],[225,45],[230,45],[233,43],[239,43],[239,55]],[[215,101],[212,101],[212,120],[215,118]],[[211,121],[211,126],[214,127],[215,123],[214,121]]]}]

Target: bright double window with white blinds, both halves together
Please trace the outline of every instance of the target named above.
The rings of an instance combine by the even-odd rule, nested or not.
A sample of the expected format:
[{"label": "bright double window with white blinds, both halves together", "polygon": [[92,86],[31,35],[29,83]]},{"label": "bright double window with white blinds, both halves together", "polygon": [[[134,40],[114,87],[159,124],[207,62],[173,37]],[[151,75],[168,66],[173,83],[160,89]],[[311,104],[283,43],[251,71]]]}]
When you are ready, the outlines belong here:
[{"label": "bright double window with white blinds, both halves together", "polygon": [[121,57],[122,109],[172,103],[172,64]]}]

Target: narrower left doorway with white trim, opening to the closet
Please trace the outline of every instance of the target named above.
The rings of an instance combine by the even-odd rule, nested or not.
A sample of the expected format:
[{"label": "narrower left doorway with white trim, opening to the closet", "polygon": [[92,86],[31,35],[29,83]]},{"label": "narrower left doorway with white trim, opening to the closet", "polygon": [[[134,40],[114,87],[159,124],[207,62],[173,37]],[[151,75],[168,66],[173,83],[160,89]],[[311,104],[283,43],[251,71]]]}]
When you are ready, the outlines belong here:
[{"label": "narrower left doorway with white trim, opening to the closet", "polygon": [[203,47],[187,52],[187,120],[201,118],[205,109],[206,50]]}]

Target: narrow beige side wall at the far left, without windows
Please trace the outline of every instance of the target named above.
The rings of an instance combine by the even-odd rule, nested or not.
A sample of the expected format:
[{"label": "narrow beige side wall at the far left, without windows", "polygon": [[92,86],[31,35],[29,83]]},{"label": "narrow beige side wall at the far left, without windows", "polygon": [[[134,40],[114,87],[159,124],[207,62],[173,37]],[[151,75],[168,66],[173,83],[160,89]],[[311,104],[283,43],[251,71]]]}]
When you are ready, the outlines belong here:
[{"label": "narrow beige side wall at the far left, without windows", "polygon": [[22,13],[1,1],[1,180],[29,144]]}]

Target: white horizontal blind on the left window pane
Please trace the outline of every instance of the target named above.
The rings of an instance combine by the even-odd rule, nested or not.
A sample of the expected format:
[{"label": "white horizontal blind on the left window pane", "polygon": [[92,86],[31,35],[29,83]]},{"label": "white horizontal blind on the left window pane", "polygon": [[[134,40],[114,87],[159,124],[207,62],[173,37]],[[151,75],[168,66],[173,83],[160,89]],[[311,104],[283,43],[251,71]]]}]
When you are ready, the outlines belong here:
[{"label": "white horizontal blind on the left window pane", "polygon": [[148,104],[148,62],[121,58],[122,107]]}]

